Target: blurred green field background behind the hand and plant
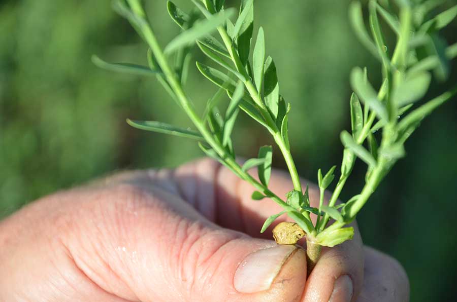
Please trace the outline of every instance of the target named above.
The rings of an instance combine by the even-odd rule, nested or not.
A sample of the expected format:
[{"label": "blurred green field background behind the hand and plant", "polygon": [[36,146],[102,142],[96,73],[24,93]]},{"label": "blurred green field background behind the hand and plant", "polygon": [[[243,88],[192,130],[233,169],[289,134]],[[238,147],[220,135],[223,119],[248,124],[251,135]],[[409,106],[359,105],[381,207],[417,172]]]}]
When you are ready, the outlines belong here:
[{"label": "blurred green field background behind the hand and plant", "polygon": [[[178,28],[165,0],[146,3],[165,45]],[[189,3],[176,1],[184,9]],[[312,180],[318,168],[341,162],[339,133],[350,127],[350,69],[368,66],[370,81],[380,83],[379,64],[350,29],[348,3],[284,0],[255,6],[256,24],[264,26],[267,52],[278,66],[281,93],[292,104],[292,154],[300,174]],[[455,32],[457,22],[443,32],[449,44],[456,42]],[[127,126],[126,118],[191,125],[155,78],[97,69],[92,54],[145,64],[145,46],[109,1],[0,1],[0,218],[117,169],[170,167],[202,156],[193,141]],[[195,58],[205,61],[198,51]],[[217,89],[191,66],[186,89],[202,108]],[[456,82],[454,70],[446,83],[433,84],[429,96]],[[260,145],[271,142],[244,116],[236,127],[239,155],[255,156]],[[406,268],[412,301],[454,298],[456,130],[454,98],[422,123],[406,144],[406,159],[358,216],[365,243]],[[275,166],[285,167],[279,156]],[[364,168],[356,167],[343,198],[360,190]]]}]

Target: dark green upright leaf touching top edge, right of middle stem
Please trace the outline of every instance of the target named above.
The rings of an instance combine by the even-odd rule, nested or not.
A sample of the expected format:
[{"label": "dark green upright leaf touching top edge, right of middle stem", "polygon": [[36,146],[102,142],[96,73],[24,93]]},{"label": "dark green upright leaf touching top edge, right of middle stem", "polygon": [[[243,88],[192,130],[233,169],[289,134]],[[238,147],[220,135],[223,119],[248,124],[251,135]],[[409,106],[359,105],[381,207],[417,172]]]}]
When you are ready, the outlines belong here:
[{"label": "dark green upright leaf touching top edge, right of middle stem", "polygon": [[[234,28],[232,32],[233,39],[237,41],[238,55],[240,56],[240,61],[243,64],[243,66],[245,66],[249,62],[252,32],[254,29],[254,6],[249,5],[250,2],[251,0],[241,1],[241,13],[238,20],[244,19],[244,22],[242,22],[241,28],[238,31],[238,33],[236,33],[236,28]],[[250,7],[250,9],[247,9],[248,7]],[[247,15],[242,17],[241,14],[245,11],[247,12]]]}]

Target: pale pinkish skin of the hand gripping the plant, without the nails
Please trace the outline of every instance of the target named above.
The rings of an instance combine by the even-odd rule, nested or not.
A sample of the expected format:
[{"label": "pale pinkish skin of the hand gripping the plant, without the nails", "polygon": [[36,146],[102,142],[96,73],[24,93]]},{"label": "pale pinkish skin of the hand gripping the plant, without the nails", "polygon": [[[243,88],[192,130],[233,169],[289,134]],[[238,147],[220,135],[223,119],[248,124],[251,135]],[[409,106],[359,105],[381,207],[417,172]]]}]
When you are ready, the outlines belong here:
[{"label": "pale pinkish skin of the hand gripping the plant, without the nails", "polygon": [[[281,171],[272,172],[270,185],[279,196],[292,187]],[[252,201],[252,191],[205,159],[175,170],[123,172],[44,197],[0,222],[0,300],[409,300],[402,267],[364,247],[356,228],[353,240],[322,250],[310,276],[305,252],[289,245],[293,252],[269,288],[240,291],[237,270],[247,256],[275,245],[275,224],[259,230],[280,211],[270,200]],[[318,203],[314,186],[310,199]],[[353,292],[346,286],[332,296],[341,276],[349,276]]]}]

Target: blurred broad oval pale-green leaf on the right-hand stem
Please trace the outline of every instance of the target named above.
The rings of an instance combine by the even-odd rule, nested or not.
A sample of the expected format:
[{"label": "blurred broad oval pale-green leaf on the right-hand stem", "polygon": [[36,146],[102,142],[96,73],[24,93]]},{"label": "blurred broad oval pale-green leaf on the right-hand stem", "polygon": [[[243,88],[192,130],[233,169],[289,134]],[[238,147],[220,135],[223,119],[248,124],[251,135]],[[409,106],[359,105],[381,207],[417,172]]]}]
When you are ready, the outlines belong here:
[{"label": "blurred broad oval pale-green leaf on the right-hand stem", "polygon": [[400,107],[420,100],[429,90],[432,77],[429,72],[420,72],[406,78],[394,89],[392,100]]}]

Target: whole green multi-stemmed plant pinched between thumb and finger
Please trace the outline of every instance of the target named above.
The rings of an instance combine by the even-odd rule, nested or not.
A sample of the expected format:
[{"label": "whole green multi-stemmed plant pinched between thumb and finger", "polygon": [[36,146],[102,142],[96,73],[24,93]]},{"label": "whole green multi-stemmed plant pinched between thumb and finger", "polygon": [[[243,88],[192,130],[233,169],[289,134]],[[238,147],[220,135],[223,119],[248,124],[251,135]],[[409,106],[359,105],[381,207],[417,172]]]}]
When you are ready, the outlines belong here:
[{"label": "whole green multi-stemmed plant pinched between thumb and finger", "polygon": [[[324,191],[334,181],[336,166],[326,173],[318,171],[320,200],[319,207],[313,208],[310,207],[308,188],[302,187],[291,155],[287,131],[290,104],[280,94],[275,63],[266,55],[263,28],[258,29],[254,39],[252,36],[253,0],[241,1],[236,20],[235,10],[225,8],[223,0],[192,2],[200,13],[186,14],[172,2],[167,3],[171,18],[182,32],[162,49],[147,21],[141,1],[115,1],[114,9],[135,27],[148,44],[149,66],[107,63],[97,57],[93,57],[93,61],[109,70],[155,74],[197,130],[153,121],[127,120],[128,124],[197,140],[206,155],[256,188],[257,191],[252,193],[253,200],[270,198],[279,204],[283,211],[269,217],[260,232],[264,232],[279,216],[288,215],[295,223],[278,224],[273,236],[279,244],[295,244],[306,236],[310,271],[319,258],[322,246],[333,247],[352,238],[354,230],[347,224],[355,219],[395,163],[405,156],[405,141],[423,118],[457,92],[457,88],[453,88],[413,108],[429,89],[431,71],[438,80],[445,79],[448,60],[457,56],[457,44],[446,47],[438,36],[438,31],[457,16],[457,6],[424,20],[424,16],[440,2],[397,0],[394,6],[387,0],[370,1],[369,26],[365,26],[361,3],[351,3],[351,24],[361,43],[379,60],[383,82],[376,91],[368,80],[366,68],[355,67],[352,70],[350,83],[353,93],[349,102],[351,131],[341,133],[344,153],[340,176],[329,203],[325,205]],[[380,19],[396,34],[395,45],[388,47],[384,41]],[[200,72],[219,87],[201,115],[195,111],[183,89],[194,44],[219,66],[214,68],[197,62]],[[224,93],[230,98],[230,103],[222,115],[217,105]],[[285,199],[268,188],[272,146],[261,147],[257,158],[247,160],[242,166],[236,162],[231,133],[240,110],[264,126],[278,145],[294,187]],[[378,130],[379,137],[377,133],[375,135]],[[362,160],[368,167],[365,185],[360,194],[337,205],[356,159]],[[257,167],[259,181],[248,174],[253,167]],[[315,223],[311,214],[317,216]],[[329,225],[330,218],[334,222]]]}]

